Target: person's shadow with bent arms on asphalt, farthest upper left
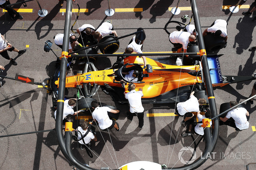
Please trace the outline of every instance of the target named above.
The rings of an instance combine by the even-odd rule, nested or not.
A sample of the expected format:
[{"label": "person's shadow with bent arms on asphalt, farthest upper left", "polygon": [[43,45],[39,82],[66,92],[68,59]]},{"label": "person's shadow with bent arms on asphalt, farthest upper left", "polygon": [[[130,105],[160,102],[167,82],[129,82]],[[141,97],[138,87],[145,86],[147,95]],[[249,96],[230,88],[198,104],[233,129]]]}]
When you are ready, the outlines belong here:
[{"label": "person's shadow with bent arms on asphalt, farthest upper left", "polygon": [[[60,10],[59,4],[56,4],[54,8],[48,13],[44,18],[42,18],[39,22],[36,23],[35,32],[37,36],[37,40],[40,40],[46,37],[50,31],[52,30],[53,24],[51,23],[52,19],[58,14]],[[36,21],[40,18],[40,16],[36,19]],[[33,25],[33,24],[32,24]],[[43,29],[44,26],[48,26],[48,29]],[[31,27],[31,26],[30,26]],[[43,35],[40,36],[42,31],[46,31]]]}]

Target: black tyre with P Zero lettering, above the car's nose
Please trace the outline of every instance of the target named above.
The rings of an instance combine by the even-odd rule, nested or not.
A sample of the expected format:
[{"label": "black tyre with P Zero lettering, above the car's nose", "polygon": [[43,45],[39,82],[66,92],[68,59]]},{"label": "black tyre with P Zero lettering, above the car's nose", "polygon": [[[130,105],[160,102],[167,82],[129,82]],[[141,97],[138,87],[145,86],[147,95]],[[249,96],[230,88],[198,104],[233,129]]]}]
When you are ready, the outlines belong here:
[{"label": "black tyre with P Zero lettering, above the car's nose", "polygon": [[[113,35],[108,35],[106,37],[103,37],[99,43],[113,40],[115,37]],[[113,54],[115,53],[119,48],[119,41],[113,40],[104,44],[99,45],[100,52],[102,54]]]}]

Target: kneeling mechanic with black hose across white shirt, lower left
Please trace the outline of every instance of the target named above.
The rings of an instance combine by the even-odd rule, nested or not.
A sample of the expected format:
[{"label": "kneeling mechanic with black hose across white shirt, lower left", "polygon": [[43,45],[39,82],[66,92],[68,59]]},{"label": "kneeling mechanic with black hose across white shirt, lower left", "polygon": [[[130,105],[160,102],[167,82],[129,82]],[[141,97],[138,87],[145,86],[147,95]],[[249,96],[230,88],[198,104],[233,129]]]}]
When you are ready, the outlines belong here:
[{"label": "kneeling mechanic with black hose across white shirt, lower left", "polygon": [[[88,122],[85,121],[81,127],[78,126],[76,130],[78,130],[77,132],[77,137],[78,137],[78,142],[79,142],[79,148],[81,150],[84,149],[85,145],[88,144],[88,148],[91,148],[91,141],[97,141],[97,137],[95,134],[93,134],[92,132],[90,132],[90,129],[88,129],[89,125]],[[94,132],[95,133],[95,132]]]}]

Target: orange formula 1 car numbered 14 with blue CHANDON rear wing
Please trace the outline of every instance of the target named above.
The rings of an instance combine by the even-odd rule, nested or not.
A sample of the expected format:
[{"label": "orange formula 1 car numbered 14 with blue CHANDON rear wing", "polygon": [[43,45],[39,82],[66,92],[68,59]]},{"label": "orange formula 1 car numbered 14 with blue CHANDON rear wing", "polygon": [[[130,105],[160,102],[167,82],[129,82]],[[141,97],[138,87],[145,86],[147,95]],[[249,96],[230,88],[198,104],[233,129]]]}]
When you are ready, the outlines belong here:
[{"label": "orange formula 1 car numbered 14 with blue CHANDON rear wing", "polygon": [[[252,77],[222,76],[218,55],[207,57],[207,59],[213,86],[223,86],[229,83],[254,79]],[[194,95],[197,98],[207,99],[202,81],[202,71],[199,65],[170,65],[167,64],[170,58],[159,58],[156,60],[146,58],[146,60],[146,69],[143,69],[142,58],[130,56],[115,63],[111,68],[99,71],[94,69],[94,71],[81,75],[67,77],[66,87],[75,88],[77,85],[82,85],[84,97],[92,97],[98,88],[101,87],[106,94],[110,95],[119,104],[128,103],[123,94],[128,92],[128,83],[134,83],[137,91],[139,88],[142,88],[144,94],[142,103],[182,102],[188,99],[192,90],[196,91]],[[88,65],[93,66],[91,68],[95,68],[91,62],[87,63],[87,67]],[[130,70],[139,71],[137,81],[128,81],[124,78],[123,72]],[[52,86],[58,87],[58,79],[55,79],[53,82]]]}]

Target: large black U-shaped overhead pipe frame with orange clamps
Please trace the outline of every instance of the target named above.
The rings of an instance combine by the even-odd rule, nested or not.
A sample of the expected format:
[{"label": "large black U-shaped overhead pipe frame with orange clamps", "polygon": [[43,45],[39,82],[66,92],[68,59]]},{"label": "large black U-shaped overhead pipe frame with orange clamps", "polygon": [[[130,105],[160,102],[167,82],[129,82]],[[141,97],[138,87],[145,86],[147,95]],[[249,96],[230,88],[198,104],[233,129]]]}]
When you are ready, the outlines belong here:
[{"label": "large black U-shaped overhead pipe frame with orange clamps", "polygon": [[[198,33],[197,38],[198,38],[198,43],[199,43],[199,51],[200,51],[200,57],[201,57],[201,61],[202,61],[203,74],[204,74],[204,80],[205,80],[205,86],[206,86],[209,106],[210,106],[212,116],[215,117],[215,116],[217,116],[217,108],[216,108],[214,93],[213,93],[213,89],[212,89],[212,81],[210,78],[210,72],[209,72],[205,47],[204,47],[203,34],[202,34],[198,10],[197,10],[197,6],[196,6],[196,0],[190,0],[190,2],[191,2],[192,12],[194,15],[196,31]],[[70,31],[70,22],[71,22],[71,3],[72,3],[72,0],[67,0],[66,11],[70,11],[70,12],[66,12],[66,18],[65,18],[63,48],[62,48],[61,66],[60,66],[59,95],[58,95],[58,101],[57,101],[57,115],[56,115],[56,124],[55,124],[56,136],[57,136],[57,140],[58,140],[61,152],[73,166],[75,166],[76,168],[78,168],[80,170],[97,170],[97,169],[94,169],[94,168],[91,168],[88,166],[84,166],[81,162],[79,162],[73,156],[72,150],[71,150],[72,132],[69,129],[68,130],[65,129],[65,141],[64,141],[63,132],[62,132],[64,93],[65,93],[65,85],[66,85],[65,80],[66,80],[66,71],[67,71],[67,60],[64,55],[66,55],[67,57],[68,57],[68,55],[70,55],[70,54],[68,54],[68,41],[69,41],[69,31]],[[119,38],[121,38],[121,37],[119,37]],[[84,50],[84,49],[82,49],[82,50]],[[138,54],[135,54],[135,55],[138,55]],[[131,56],[131,54],[129,54],[129,56]],[[207,155],[209,155],[209,153],[212,153],[212,151],[215,148],[215,145],[216,145],[217,139],[218,139],[218,135],[219,135],[219,122],[218,121],[214,122],[214,128],[212,130],[212,134],[211,134],[210,127],[204,128],[204,135],[205,135],[206,142],[205,142],[205,149],[204,149],[204,152],[201,157],[197,158],[190,165],[185,165],[182,167],[175,167],[175,168],[162,168],[162,169],[163,170],[164,169],[190,170],[190,169],[196,169],[197,167],[201,166],[208,159]],[[204,159],[201,159],[201,158],[204,158]]]}]

